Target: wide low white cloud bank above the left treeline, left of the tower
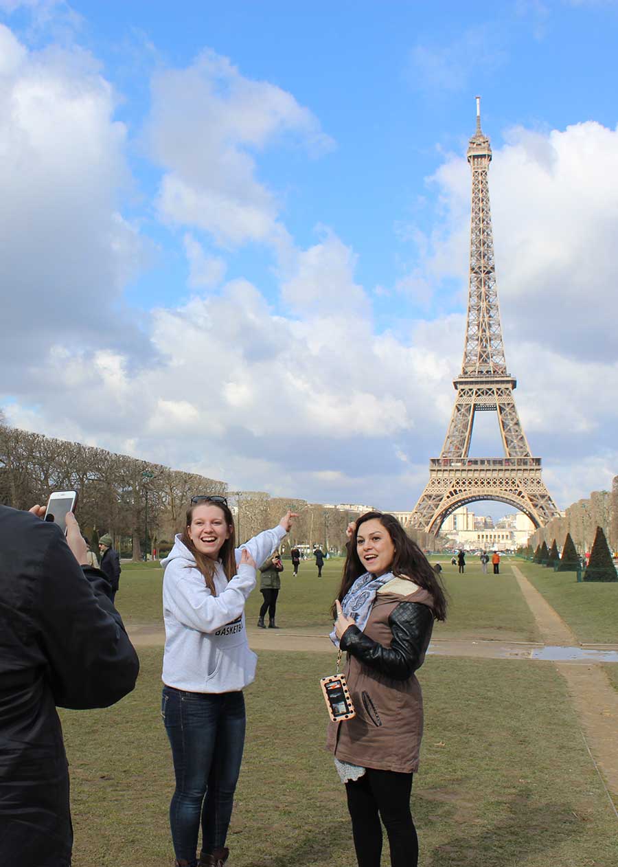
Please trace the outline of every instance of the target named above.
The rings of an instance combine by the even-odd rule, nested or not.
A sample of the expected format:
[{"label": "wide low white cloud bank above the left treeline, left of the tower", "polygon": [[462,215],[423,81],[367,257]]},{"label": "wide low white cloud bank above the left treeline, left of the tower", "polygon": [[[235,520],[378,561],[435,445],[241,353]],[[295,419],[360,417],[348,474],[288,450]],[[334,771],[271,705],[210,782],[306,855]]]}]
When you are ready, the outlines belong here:
[{"label": "wide low white cloud bank above the left treeline, left of the tower", "polygon": [[[232,484],[273,491],[276,479],[279,491],[310,499],[344,489],[362,499],[368,475],[399,481],[390,440],[407,447],[433,429],[433,389],[449,388],[447,366],[431,346],[374,334],[352,251],[332,233],[316,247],[289,274],[296,302],[307,306],[302,317],[277,315],[254,286],[234,280],[216,296],[155,311],[147,367],[111,353],[49,355],[46,377],[58,388],[40,395],[36,427],[61,433],[83,394],[81,440],[96,431],[106,447]],[[327,291],[316,280],[324,263],[338,263]],[[24,412],[9,407],[12,420]]]}]

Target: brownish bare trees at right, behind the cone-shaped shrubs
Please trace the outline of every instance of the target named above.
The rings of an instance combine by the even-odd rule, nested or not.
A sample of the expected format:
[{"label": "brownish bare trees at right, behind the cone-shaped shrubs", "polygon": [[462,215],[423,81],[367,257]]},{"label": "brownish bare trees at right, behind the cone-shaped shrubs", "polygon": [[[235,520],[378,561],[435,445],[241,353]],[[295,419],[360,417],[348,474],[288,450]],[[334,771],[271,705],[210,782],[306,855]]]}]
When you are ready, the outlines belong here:
[{"label": "brownish bare trees at right, behind the cone-shaped shrubs", "polygon": [[567,533],[581,553],[590,551],[595,539],[596,528],[602,527],[612,551],[618,550],[618,476],[615,476],[611,491],[593,491],[588,499],[578,499],[569,505],[564,517],[553,518],[549,524],[539,527],[529,539],[528,544],[536,549],[538,545],[550,546],[553,539],[564,544]]}]

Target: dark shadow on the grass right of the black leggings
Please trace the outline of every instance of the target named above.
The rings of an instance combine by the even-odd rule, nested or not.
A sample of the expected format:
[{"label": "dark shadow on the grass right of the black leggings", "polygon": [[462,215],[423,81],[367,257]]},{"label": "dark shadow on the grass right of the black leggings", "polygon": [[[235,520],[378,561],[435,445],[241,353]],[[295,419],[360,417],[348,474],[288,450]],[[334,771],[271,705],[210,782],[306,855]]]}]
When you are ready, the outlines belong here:
[{"label": "dark shadow on the grass right of the black leggings", "polygon": [[550,864],[549,852],[581,830],[572,805],[536,801],[526,789],[511,799],[506,810],[494,824],[465,823],[457,836],[434,846],[423,863],[426,867],[494,867],[518,864],[547,851]]}]

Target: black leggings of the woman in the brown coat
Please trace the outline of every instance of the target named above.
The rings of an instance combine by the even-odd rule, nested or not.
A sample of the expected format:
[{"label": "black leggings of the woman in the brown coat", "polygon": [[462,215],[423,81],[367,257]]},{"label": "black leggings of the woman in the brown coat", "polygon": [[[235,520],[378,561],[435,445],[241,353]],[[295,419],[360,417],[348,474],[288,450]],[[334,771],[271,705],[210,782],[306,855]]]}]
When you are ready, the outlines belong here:
[{"label": "black leggings of the woman in the brown coat", "polygon": [[346,783],[358,867],[380,867],[380,819],[387,829],[391,867],[419,864],[419,840],[410,812],[412,776],[368,768],[361,779]]}]

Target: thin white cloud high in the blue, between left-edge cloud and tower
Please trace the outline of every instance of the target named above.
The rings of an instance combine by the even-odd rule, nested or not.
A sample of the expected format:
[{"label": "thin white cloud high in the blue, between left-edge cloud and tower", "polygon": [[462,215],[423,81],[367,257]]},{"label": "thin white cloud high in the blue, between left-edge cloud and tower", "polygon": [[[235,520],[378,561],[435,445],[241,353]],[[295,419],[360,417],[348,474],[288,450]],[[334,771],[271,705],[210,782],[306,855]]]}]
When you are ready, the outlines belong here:
[{"label": "thin white cloud high in the blue, between left-edge cloud and tower", "polygon": [[165,167],[159,212],[210,232],[218,244],[273,242],[279,205],[252,153],[285,136],[310,153],[332,147],[309,109],[268,81],[252,81],[214,51],[153,78],[149,139]]}]

